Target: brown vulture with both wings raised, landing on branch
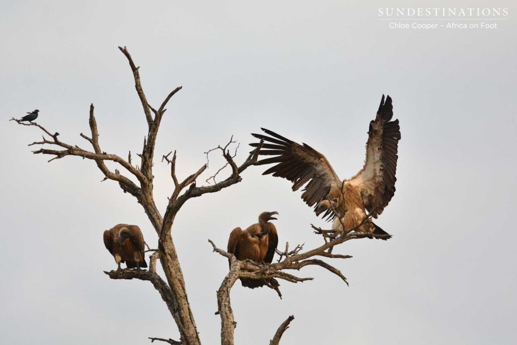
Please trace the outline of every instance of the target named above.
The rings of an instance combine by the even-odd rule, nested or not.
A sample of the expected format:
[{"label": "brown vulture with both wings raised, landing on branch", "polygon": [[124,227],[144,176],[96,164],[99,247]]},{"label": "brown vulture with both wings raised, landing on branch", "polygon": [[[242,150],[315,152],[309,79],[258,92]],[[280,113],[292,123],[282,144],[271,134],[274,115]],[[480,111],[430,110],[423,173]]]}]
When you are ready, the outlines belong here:
[{"label": "brown vulture with both wings raised, landing on branch", "polygon": [[[343,230],[341,221],[345,230],[352,229],[366,217],[367,211],[377,218],[395,193],[400,127],[398,119],[391,121],[392,116],[391,97],[385,101],[383,95],[377,115],[370,122],[364,167],[350,179],[341,181],[327,158],[311,146],[300,145],[264,128],[262,130],[271,137],[252,135],[264,140],[258,154],[273,157],[262,159],[258,164],[275,163],[263,175],[288,179],[293,183],[293,191],[308,183],[301,198],[307,205],[314,206],[316,215],[325,212],[323,217],[334,219],[332,228],[336,231]],[[388,235],[371,220],[356,231]]]}]

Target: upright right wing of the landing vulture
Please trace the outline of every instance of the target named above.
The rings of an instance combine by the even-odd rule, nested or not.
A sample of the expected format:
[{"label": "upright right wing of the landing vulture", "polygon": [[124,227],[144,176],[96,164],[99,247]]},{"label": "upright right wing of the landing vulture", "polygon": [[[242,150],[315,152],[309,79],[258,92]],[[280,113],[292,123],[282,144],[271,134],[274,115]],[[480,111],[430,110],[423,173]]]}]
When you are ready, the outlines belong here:
[{"label": "upright right wing of the landing vulture", "polygon": [[370,122],[364,167],[349,180],[360,188],[366,209],[375,209],[374,217],[383,212],[395,194],[400,126],[398,119],[390,121],[392,117],[391,97],[387,96],[385,102],[383,95],[377,116]]}]

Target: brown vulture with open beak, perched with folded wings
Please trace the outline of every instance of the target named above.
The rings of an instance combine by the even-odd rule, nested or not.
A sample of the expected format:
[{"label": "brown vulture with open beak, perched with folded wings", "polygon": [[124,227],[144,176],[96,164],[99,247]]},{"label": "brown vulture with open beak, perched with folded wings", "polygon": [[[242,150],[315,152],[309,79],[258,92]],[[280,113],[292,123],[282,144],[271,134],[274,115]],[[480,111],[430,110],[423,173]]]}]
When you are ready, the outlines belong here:
[{"label": "brown vulture with open beak, perched with folded wings", "polygon": [[[273,215],[278,212],[263,212],[255,223],[246,230],[233,229],[228,238],[228,252],[235,255],[237,260],[250,259],[257,263],[271,263],[278,245],[278,233],[275,225],[269,220],[277,219]],[[262,287],[272,281],[265,279],[240,279],[242,286],[248,288]],[[274,284],[274,283],[273,283]]]}]

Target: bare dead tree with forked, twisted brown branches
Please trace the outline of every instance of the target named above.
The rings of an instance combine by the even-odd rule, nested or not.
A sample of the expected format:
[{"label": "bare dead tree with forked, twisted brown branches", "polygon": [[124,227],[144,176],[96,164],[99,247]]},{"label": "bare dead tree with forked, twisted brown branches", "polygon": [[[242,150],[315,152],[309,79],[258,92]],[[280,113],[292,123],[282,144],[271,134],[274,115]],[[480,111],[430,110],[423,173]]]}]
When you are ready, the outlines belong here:
[{"label": "bare dead tree with forked, twisted brown branches", "polygon": [[[183,273],[181,272],[181,266],[178,261],[173,237],[171,235],[174,219],[181,206],[183,206],[183,204],[185,204],[185,202],[187,202],[189,199],[201,197],[206,193],[215,193],[221,189],[239,183],[242,179],[241,173],[244,172],[248,167],[257,165],[258,150],[262,147],[262,142],[250,153],[248,158],[243,163],[241,163],[240,166],[238,166],[234,161],[236,151],[233,155],[229,151],[230,144],[234,143],[233,137],[224,147],[218,146],[210,150],[221,151],[222,156],[226,160],[223,168],[230,166],[232,171],[230,176],[228,176],[223,181],[216,183],[215,177],[219,172],[222,171],[223,168],[219,169],[219,171],[214,176],[208,177],[205,180],[207,182],[213,180],[214,184],[208,186],[196,186],[196,179],[206,170],[207,164],[204,164],[201,168],[199,168],[199,170],[187,176],[180,182],[176,176],[176,152],[174,152],[172,158],[170,158],[172,152],[168,155],[164,155],[162,157],[162,161],[165,160],[166,163],[170,164],[171,166],[171,177],[174,181],[174,190],[171,191],[169,204],[167,205],[162,216],[155,204],[153,196],[153,162],[155,158],[155,143],[161,119],[166,111],[165,107],[167,106],[170,99],[181,89],[181,86],[175,88],[167,97],[165,97],[158,109],[153,108],[147,102],[147,98],[144,94],[140,80],[139,67],[135,66],[133,59],[131,58],[131,55],[129,54],[126,47],[118,48],[126,56],[129,62],[129,66],[133,72],[136,92],[138,93],[142,103],[142,109],[147,120],[148,132],[146,138],[144,139],[142,153],[138,154],[140,158],[139,165],[133,164],[131,160],[131,152],[129,152],[128,158],[124,159],[118,155],[109,154],[102,151],[99,143],[99,132],[94,116],[93,104],[90,105],[89,109],[90,133],[89,135],[80,133],[80,136],[86,140],[89,145],[92,146],[90,151],[83,149],[78,145],[71,145],[60,141],[58,138],[58,132],[52,133],[37,123],[25,124],[14,118],[12,120],[23,126],[36,126],[41,131],[43,131],[43,138],[41,141],[29,144],[29,146],[43,145],[42,148],[39,148],[37,151],[33,151],[33,153],[53,156],[49,162],[66,156],[79,156],[93,160],[97,164],[99,170],[104,174],[104,179],[102,181],[110,179],[117,182],[124,192],[130,193],[133,197],[136,198],[138,203],[142,205],[147,217],[149,218],[149,221],[153,225],[153,228],[159,237],[157,246],[158,249],[148,250],[154,251],[154,253],[150,256],[148,271],[138,272],[131,269],[124,269],[123,271],[111,271],[104,273],[107,274],[111,279],[148,280],[153,284],[154,288],[158,290],[163,301],[167,305],[171,316],[176,322],[180,334],[180,340],[176,341],[173,339],[149,338],[151,339],[151,342],[159,340],[168,342],[170,344],[201,344],[199,332],[197,332],[194,316],[192,314],[192,310],[190,309],[189,301],[187,298],[185,280]],[[47,137],[45,137],[45,134]],[[47,148],[49,146],[51,148]],[[210,151],[206,152],[207,157]],[[118,169],[115,169],[114,171],[110,170],[106,165],[107,162],[118,164],[118,168],[121,168],[121,171]],[[127,176],[132,176],[135,178],[136,181],[138,181],[138,184],[134,183],[132,179]],[[370,216],[367,216],[363,222],[366,221],[366,219],[369,217]],[[359,226],[361,224],[359,224]],[[270,265],[261,265],[250,260],[238,261],[235,256],[233,256],[233,254],[227,253],[226,251],[217,248],[212,241],[208,240],[214,251],[221,254],[221,256],[230,259],[231,262],[230,272],[223,279],[217,292],[218,314],[221,318],[221,344],[231,345],[234,343],[233,339],[236,323],[230,304],[230,290],[232,289],[235,281],[239,278],[282,279],[288,282],[296,283],[312,280],[313,278],[297,277],[293,274],[286,273],[286,269],[299,270],[305,266],[317,265],[339,276],[345,283],[347,283],[346,278],[343,276],[343,274],[341,274],[339,269],[320,259],[317,259],[317,257],[339,259],[351,258],[350,256],[346,255],[332,254],[331,249],[336,245],[349,241],[350,239],[364,238],[368,237],[370,234],[356,233],[353,231],[355,230],[354,228],[340,234],[340,236],[336,236],[336,234],[329,230],[322,230],[315,227],[313,228],[316,230],[316,233],[323,235],[325,242],[322,246],[306,252],[301,252],[302,246],[297,246],[295,250],[289,251],[288,244],[286,244],[285,251],[278,252],[280,254],[279,262]],[[284,259],[281,260],[282,258]],[[156,261],[158,259],[160,260],[163,271],[165,273],[165,280],[156,273]],[[275,288],[275,290],[277,290],[279,296],[281,296],[278,288]],[[272,340],[270,341],[270,344],[279,343],[280,337],[284,333],[285,329],[288,328],[288,325],[293,319],[294,317],[290,316],[280,325],[277,332],[274,334]]]}]

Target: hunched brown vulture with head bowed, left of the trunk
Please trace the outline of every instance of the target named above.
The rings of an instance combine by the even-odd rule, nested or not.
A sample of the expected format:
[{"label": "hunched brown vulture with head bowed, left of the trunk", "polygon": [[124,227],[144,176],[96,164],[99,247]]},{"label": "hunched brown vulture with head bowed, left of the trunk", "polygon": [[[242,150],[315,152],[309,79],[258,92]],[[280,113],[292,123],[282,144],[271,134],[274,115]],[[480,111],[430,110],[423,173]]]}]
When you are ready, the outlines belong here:
[{"label": "hunched brown vulture with head bowed, left of the trunk", "polygon": [[120,271],[120,263],[126,262],[127,268],[147,267],[144,257],[144,236],[135,225],[117,224],[104,231],[104,245],[115,258]]}]

